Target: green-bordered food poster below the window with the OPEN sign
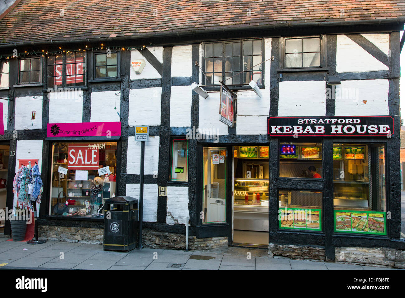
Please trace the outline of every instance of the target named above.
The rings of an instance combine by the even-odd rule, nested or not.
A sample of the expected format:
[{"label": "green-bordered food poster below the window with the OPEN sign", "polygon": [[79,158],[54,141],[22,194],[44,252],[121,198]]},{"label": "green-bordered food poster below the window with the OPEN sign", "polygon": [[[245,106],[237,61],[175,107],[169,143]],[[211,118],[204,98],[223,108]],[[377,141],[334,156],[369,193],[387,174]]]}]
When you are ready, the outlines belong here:
[{"label": "green-bordered food poster below the window with the OPEN sign", "polygon": [[301,208],[280,208],[280,229],[305,229],[322,231],[322,210]]}]

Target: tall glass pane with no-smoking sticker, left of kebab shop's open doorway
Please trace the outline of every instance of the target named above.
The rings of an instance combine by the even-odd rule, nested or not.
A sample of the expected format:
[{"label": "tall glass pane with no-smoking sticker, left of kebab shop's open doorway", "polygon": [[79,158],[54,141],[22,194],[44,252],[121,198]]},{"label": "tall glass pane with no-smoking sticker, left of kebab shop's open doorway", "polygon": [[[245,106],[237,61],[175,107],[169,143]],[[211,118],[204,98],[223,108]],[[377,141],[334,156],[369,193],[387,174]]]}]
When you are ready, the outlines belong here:
[{"label": "tall glass pane with no-smoking sticker, left of kebab shop's open doorway", "polygon": [[226,148],[203,148],[203,223],[226,222]]}]

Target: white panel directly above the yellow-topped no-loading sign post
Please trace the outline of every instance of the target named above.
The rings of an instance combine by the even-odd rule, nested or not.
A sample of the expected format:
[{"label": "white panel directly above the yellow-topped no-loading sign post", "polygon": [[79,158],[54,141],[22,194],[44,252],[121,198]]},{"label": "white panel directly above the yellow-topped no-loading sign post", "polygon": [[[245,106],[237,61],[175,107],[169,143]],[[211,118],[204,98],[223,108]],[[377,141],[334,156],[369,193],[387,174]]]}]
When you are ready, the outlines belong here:
[{"label": "white panel directly above the yellow-topped no-loading sign post", "polygon": [[160,125],[162,88],[131,89],[128,125]]}]

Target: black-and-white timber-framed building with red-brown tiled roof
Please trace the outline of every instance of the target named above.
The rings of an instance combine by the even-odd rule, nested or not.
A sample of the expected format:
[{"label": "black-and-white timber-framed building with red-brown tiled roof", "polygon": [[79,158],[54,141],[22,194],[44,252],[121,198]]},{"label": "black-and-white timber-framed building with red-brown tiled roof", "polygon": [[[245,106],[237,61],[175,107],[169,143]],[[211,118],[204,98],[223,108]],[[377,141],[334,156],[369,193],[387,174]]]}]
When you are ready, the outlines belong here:
[{"label": "black-and-white timber-framed building with red-brown tiled roof", "polygon": [[[404,5],[116,1],[100,6],[62,1],[56,7],[45,1],[32,10],[30,2],[16,1],[0,16],[5,130],[0,145],[11,152],[4,162],[5,206],[10,209],[16,202],[10,182],[19,160],[39,159],[43,237],[102,241],[103,219],[91,216],[102,203],[86,192],[86,179],[75,180],[74,171],[87,171],[88,180],[98,173],[85,165],[87,160],[70,164],[78,162],[79,145],[100,144],[96,168],[109,166],[115,175],[111,193],[138,197],[135,126],[149,125],[144,245],[185,247],[189,217],[192,249],[263,246],[249,242],[253,237],[276,255],[341,261],[341,252],[352,251],[344,260],[350,262],[363,247],[382,253],[375,264],[405,266],[404,259],[389,256],[405,250],[399,163]],[[137,74],[131,62],[140,60],[145,68]],[[336,77],[339,82],[332,82]],[[219,120],[220,80],[237,94],[233,127]],[[248,85],[251,80],[261,97]],[[207,99],[192,91],[193,82],[208,92]],[[364,123],[371,126],[381,118],[375,116],[391,116],[388,137],[350,131],[340,137],[268,133],[268,117],[346,117],[354,121],[349,124],[368,117]],[[104,123],[112,134],[72,132],[91,129],[91,122]],[[109,129],[116,122],[120,132]],[[54,133],[55,124],[67,128]],[[188,137],[198,128],[204,138]],[[282,154],[284,145],[292,145],[287,146],[292,151]],[[70,157],[74,148],[79,151]],[[213,163],[215,154],[224,163]],[[57,169],[63,165],[69,172],[58,182]],[[309,174],[311,166],[320,177]],[[158,194],[158,187],[167,188],[165,195]],[[61,188],[83,197],[76,200],[83,204],[54,214]],[[252,197],[256,192],[260,197]],[[68,215],[89,205],[84,217]],[[298,211],[283,213],[289,208],[306,210],[305,220],[294,217]],[[245,221],[246,214],[254,214],[252,222]],[[318,219],[311,221],[310,214]],[[242,232],[237,236],[236,231]],[[11,235],[8,222],[4,234]]]}]

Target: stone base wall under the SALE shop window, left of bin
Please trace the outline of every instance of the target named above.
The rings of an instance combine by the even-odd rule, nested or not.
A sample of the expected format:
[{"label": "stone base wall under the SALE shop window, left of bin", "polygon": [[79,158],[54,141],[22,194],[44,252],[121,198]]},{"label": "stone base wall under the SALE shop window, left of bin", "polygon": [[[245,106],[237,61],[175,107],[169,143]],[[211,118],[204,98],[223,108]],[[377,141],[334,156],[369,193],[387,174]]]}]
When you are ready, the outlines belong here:
[{"label": "stone base wall under the SALE shop window, left of bin", "polygon": [[103,244],[104,229],[38,225],[38,237],[54,241]]}]

